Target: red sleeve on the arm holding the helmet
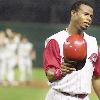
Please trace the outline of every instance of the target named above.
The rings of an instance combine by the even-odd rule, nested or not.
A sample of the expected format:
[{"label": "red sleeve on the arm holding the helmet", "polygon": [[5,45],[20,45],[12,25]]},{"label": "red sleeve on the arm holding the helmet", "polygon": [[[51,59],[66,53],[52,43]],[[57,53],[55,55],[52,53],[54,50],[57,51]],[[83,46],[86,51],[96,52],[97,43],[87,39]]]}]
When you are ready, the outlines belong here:
[{"label": "red sleeve on the arm holding the helmet", "polygon": [[45,72],[49,68],[60,69],[61,66],[61,56],[60,56],[60,48],[56,40],[51,39],[43,52],[43,66]]}]

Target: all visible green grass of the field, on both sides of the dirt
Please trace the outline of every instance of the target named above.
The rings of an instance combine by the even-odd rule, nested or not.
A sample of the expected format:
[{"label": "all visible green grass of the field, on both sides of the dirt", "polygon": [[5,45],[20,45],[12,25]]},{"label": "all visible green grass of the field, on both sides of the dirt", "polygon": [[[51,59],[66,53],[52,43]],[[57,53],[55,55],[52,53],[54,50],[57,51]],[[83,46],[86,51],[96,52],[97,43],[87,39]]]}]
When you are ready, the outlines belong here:
[{"label": "all visible green grass of the field, on both sides of the dirt", "polygon": [[[18,72],[16,73],[18,78]],[[43,70],[33,69],[33,80],[46,82],[47,79]],[[38,83],[41,86],[41,83]],[[0,87],[0,100],[44,100],[48,88],[41,87],[22,87],[22,86],[6,86]],[[90,100],[98,100],[96,95],[92,93]]]}]

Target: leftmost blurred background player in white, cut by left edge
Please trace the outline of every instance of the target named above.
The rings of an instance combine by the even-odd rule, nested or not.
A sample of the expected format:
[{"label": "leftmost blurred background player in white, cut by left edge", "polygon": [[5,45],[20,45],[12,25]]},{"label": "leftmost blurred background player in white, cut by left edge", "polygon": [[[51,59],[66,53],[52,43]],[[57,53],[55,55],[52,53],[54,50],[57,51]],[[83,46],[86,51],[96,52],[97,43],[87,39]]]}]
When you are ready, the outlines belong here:
[{"label": "leftmost blurred background player in white, cut by left edge", "polygon": [[11,81],[10,76],[12,74],[9,61],[11,61],[13,53],[6,47],[5,39],[5,33],[0,32],[0,80],[2,84]]}]

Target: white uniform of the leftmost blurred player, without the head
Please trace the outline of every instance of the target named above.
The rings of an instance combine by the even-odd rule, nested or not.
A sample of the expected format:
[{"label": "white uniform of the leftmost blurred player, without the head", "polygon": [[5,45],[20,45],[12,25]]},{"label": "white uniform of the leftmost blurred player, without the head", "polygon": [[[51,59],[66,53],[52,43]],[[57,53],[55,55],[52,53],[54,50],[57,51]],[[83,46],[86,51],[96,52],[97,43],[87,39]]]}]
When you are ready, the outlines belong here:
[{"label": "white uniform of the leftmost blurred player, without the head", "polygon": [[7,80],[9,81],[9,60],[12,57],[11,51],[6,47],[0,48],[0,80],[5,80],[5,75]]}]

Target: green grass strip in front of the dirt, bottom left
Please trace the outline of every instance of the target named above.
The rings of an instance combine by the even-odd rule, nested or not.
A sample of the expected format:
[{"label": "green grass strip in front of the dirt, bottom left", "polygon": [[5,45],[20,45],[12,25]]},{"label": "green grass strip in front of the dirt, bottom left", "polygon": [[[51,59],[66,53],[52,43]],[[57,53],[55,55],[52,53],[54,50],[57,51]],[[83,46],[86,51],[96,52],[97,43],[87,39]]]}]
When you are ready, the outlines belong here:
[{"label": "green grass strip in front of the dirt, bottom left", "polygon": [[44,100],[47,89],[0,87],[0,100]]}]

